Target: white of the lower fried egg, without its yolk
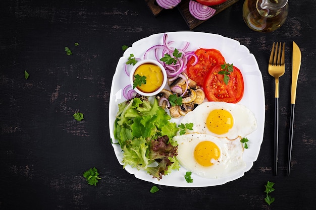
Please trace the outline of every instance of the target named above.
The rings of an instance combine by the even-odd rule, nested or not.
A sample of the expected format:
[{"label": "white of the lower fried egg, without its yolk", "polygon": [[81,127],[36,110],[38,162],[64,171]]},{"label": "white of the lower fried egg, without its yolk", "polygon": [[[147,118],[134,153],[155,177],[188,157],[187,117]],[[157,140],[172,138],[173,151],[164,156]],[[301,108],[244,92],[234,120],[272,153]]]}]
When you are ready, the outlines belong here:
[{"label": "white of the lower fried egg, without its yolk", "polygon": [[[240,138],[230,141],[227,138],[190,133],[174,136],[174,141],[178,143],[177,159],[179,163],[188,171],[204,178],[228,177],[242,171],[246,167],[243,161],[243,147]],[[202,141],[215,143],[221,151],[218,161],[212,166],[201,166],[194,159],[194,148]]]}]

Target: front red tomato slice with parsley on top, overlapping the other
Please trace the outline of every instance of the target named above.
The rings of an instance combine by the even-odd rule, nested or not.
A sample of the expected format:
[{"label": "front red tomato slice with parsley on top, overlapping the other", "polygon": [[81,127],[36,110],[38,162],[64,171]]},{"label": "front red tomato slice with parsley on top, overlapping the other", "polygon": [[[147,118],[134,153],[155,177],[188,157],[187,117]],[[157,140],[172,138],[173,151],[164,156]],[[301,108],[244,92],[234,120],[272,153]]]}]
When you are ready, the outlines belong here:
[{"label": "front red tomato slice with parsley on top, overlapping the other", "polygon": [[218,74],[220,71],[222,67],[218,64],[205,76],[203,90],[207,100],[237,103],[244,94],[244,80],[240,70],[233,66],[227,85],[224,83],[224,75]]}]

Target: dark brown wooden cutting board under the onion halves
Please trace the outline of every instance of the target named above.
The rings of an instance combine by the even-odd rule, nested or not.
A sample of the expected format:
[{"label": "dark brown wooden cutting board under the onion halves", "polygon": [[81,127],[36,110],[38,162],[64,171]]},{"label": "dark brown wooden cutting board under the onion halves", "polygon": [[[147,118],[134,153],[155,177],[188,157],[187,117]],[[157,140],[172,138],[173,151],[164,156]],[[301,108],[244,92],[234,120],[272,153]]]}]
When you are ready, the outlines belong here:
[{"label": "dark brown wooden cutting board under the onion halves", "polygon": [[[227,0],[223,4],[212,6],[212,8],[216,10],[216,13],[214,15],[219,14],[220,12],[229,8],[230,6],[232,6],[233,4],[235,4],[238,1],[239,0]],[[145,0],[145,2],[146,2],[148,8],[150,9],[150,11],[154,17],[157,17],[163,10],[165,10],[165,9],[161,8],[156,3],[155,0]],[[196,26],[200,25],[201,23],[203,23],[205,21],[212,20],[212,17],[209,18],[208,20],[205,20],[205,21],[201,21],[201,20],[194,18],[190,14],[190,11],[189,11],[189,2],[190,2],[190,0],[182,0],[181,3],[177,6],[177,8],[178,8],[179,12],[181,13],[183,19],[187,23],[190,30],[192,30],[193,28],[195,28]]]}]

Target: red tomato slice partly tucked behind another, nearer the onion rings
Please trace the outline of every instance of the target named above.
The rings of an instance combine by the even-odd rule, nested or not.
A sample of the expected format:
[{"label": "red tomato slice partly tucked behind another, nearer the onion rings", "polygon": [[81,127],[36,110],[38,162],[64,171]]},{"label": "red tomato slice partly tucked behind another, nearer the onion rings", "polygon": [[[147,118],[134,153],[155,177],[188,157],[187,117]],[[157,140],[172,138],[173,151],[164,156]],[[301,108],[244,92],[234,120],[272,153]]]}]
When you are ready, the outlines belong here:
[{"label": "red tomato slice partly tucked behind another, nearer the onion rings", "polygon": [[195,81],[198,86],[202,87],[204,77],[207,72],[215,65],[224,63],[225,58],[217,49],[200,48],[194,53],[197,55],[198,61],[195,65],[192,65],[195,61],[195,58],[191,57],[188,60],[187,74],[191,80]]}]

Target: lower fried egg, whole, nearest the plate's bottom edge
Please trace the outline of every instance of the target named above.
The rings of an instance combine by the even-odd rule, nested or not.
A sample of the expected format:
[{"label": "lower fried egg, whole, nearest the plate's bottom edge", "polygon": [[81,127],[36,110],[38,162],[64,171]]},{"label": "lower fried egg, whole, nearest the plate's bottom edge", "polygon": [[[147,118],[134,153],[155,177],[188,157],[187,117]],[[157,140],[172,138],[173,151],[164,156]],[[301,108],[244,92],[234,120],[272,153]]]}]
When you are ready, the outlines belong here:
[{"label": "lower fried egg, whole, nearest the plate's bottom edge", "polygon": [[242,159],[242,143],[236,139],[190,133],[176,135],[178,143],[177,159],[188,171],[204,178],[231,176],[246,167]]}]

